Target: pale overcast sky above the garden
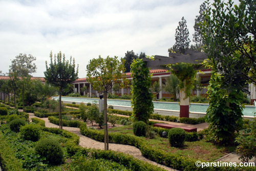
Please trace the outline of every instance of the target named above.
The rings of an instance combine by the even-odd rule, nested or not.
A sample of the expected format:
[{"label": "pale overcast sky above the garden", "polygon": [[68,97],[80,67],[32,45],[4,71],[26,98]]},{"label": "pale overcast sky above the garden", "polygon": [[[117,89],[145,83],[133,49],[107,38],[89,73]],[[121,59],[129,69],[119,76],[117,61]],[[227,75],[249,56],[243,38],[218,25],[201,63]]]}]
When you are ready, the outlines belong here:
[{"label": "pale overcast sky above the garden", "polygon": [[[127,51],[168,56],[182,16],[193,43],[194,23],[203,0],[3,1],[0,0],[0,70],[8,72],[15,56],[36,57],[34,77],[44,77],[49,54],[65,53],[86,65],[99,55],[124,57]],[[190,43],[190,44],[191,44]]]}]

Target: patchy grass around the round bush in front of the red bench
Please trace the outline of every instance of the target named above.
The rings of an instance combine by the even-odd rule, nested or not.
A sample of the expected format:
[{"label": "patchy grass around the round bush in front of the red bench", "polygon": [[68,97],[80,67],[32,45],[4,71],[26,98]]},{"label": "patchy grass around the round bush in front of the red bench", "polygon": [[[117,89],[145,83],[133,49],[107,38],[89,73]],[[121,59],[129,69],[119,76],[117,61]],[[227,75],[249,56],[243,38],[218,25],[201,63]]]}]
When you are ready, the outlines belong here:
[{"label": "patchy grass around the round bush in front of the red bench", "polygon": [[[131,125],[110,128],[109,132],[119,132],[123,134],[134,135],[133,126]],[[167,138],[162,138],[160,136],[155,136],[153,139],[145,137],[141,138],[147,141],[148,144],[156,149],[198,160],[215,161],[229,153],[224,146],[214,145],[211,142],[206,142],[204,139],[194,142],[185,142],[182,148],[174,148],[173,146],[170,146]]]}]

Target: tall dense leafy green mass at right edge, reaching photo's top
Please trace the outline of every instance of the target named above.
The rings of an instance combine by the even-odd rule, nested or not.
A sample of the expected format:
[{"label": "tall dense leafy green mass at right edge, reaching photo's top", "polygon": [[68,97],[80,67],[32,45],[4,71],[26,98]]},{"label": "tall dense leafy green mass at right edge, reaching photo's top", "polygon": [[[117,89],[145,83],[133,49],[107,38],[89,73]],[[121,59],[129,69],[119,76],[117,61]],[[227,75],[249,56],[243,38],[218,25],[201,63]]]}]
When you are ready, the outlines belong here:
[{"label": "tall dense leafy green mass at right edge, reaching photo's top", "polygon": [[248,82],[256,83],[256,2],[241,0],[233,5],[206,2],[201,25],[204,51],[212,76],[207,121],[217,143],[229,144],[242,125],[242,94]]}]

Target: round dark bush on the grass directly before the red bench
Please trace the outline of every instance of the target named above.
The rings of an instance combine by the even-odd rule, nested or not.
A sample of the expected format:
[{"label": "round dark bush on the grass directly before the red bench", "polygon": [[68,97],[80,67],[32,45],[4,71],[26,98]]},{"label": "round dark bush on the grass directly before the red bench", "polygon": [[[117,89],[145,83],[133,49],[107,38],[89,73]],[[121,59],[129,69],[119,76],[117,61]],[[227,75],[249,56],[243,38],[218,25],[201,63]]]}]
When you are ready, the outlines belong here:
[{"label": "round dark bush on the grass directly before the red bench", "polygon": [[185,130],[181,128],[172,128],[168,132],[168,139],[170,142],[170,145],[175,147],[181,147],[183,146],[186,138],[186,132]]}]

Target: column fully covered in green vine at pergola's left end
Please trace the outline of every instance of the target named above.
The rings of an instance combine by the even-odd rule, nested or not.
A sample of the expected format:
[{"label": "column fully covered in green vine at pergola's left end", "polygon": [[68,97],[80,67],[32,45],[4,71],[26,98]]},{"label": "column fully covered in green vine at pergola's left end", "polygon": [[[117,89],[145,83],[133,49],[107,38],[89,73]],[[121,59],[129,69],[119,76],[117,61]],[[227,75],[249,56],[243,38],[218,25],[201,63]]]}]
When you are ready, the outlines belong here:
[{"label": "column fully covered in green vine at pergola's left end", "polygon": [[152,102],[151,75],[146,63],[141,59],[134,60],[132,65],[132,108],[135,121],[147,123],[150,114],[154,111]]}]

